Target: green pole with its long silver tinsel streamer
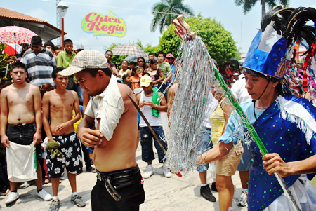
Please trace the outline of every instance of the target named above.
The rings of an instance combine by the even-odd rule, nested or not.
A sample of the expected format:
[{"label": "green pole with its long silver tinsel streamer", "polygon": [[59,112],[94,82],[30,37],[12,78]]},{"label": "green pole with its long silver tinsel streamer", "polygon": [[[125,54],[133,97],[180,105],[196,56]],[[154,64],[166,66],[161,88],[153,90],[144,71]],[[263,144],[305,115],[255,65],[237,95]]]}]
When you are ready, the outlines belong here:
[{"label": "green pole with its long silver tinsel streamer", "polygon": [[[204,108],[207,96],[211,94],[211,86],[216,83],[216,80],[253,137],[252,139],[245,134],[245,141],[249,142],[249,138],[251,138],[250,140],[256,142],[263,155],[268,154],[256,130],[213,64],[202,39],[199,36],[196,36],[195,39],[183,39],[180,49],[182,50],[180,53],[182,69],[177,76],[179,85],[171,107],[171,132],[165,156],[171,172],[182,171],[185,175],[187,171],[195,168],[197,157],[202,154],[197,146],[200,142],[199,135],[202,135],[203,131],[202,122],[206,115]],[[240,131],[242,128],[238,128],[238,130]],[[276,173],[275,177],[294,209],[300,210],[284,179]]]}]

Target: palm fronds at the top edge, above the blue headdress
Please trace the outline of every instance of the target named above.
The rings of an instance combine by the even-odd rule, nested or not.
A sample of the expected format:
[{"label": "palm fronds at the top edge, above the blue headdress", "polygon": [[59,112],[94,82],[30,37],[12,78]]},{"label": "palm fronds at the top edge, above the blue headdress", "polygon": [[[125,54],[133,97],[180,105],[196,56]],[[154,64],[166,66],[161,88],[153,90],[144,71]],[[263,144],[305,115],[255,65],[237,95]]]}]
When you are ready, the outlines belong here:
[{"label": "palm fronds at the top edge, above the blue headdress", "polygon": [[[251,8],[256,4],[258,0],[235,0],[235,4],[237,6],[241,6],[244,8],[244,14],[248,13]],[[279,0],[279,4],[283,4],[287,6],[288,0]],[[276,6],[276,0],[260,0],[261,4],[261,18],[263,18],[263,15],[265,15],[265,4],[268,4],[270,8],[273,6]]]}]

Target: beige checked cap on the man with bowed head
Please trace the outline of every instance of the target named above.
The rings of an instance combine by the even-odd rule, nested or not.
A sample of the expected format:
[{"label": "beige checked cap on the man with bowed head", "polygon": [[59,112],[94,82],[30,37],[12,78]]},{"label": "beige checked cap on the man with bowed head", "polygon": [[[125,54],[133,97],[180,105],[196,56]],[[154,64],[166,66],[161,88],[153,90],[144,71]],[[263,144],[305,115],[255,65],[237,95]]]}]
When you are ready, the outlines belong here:
[{"label": "beige checked cap on the man with bowed head", "polygon": [[62,76],[71,76],[84,69],[108,68],[107,59],[98,50],[82,50],[74,57],[70,67],[59,72]]}]

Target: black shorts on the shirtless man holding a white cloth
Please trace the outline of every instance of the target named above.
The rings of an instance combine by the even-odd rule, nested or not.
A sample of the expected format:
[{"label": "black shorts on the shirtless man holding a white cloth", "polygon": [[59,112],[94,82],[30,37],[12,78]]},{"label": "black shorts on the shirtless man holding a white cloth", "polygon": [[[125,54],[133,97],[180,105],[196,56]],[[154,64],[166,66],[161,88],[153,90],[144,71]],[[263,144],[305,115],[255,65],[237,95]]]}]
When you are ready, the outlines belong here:
[{"label": "black shorts on the shirtless man holding a white cloth", "polygon": [[[6,136],[8,136],[9,141],[20,145],[32,144],[35,132],[37,132],[37,125],[35,123],[8,124],[6,128]],[[35,147],[37,160],[39,160],[42,158],[41,144],[37,144]]]}]

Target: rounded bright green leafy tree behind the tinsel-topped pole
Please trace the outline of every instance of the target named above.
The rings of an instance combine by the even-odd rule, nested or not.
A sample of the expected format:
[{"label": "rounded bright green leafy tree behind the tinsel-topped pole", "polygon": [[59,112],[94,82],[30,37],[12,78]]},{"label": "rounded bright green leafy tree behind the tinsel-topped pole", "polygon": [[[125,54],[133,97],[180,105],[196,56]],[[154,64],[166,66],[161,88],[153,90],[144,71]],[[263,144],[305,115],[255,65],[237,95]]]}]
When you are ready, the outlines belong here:
[{"label": "rounded bright green leafy tree behind the tinsel-topped pole", "polygon": [[[200,15],[197,18],[186,18],[185,22],[190,25],[193,32],[197,32],[197,35],[203,39],[209,54],[218,64],[229,62],[234,57],[240,57],[232,34],[226,31],[220,22],[211,18],[202,18]],[[162,37],[159,38],[159,48],[164,53],[172,53],[177,56],[181,39],[173,32],[174,29],[175,26],[170,25],[162,34]]]}]

